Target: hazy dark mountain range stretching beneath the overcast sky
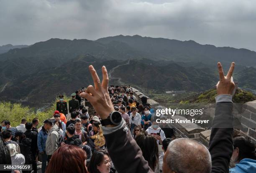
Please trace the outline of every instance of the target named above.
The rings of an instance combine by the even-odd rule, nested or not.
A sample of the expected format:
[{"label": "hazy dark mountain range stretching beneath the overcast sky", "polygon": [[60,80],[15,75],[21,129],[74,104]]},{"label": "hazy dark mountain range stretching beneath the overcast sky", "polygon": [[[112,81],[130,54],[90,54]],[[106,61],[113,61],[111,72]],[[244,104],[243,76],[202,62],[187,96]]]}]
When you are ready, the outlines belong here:
[{"label": "hazy dark mountain range stretching beneath the overcast sky", "polygon": [[218,61],[226,72],[235,61],[238,85],[256,90],[256,52],[251,50],[139,35],[95,41],[55,38],[0,54],[0,99],[44,105],[59,93],[70,94],[92,84],[90,64],[99,73],[102,65],[109,72],[122,65],[112,71],[111,84],[203,91],[218,81]]}]

